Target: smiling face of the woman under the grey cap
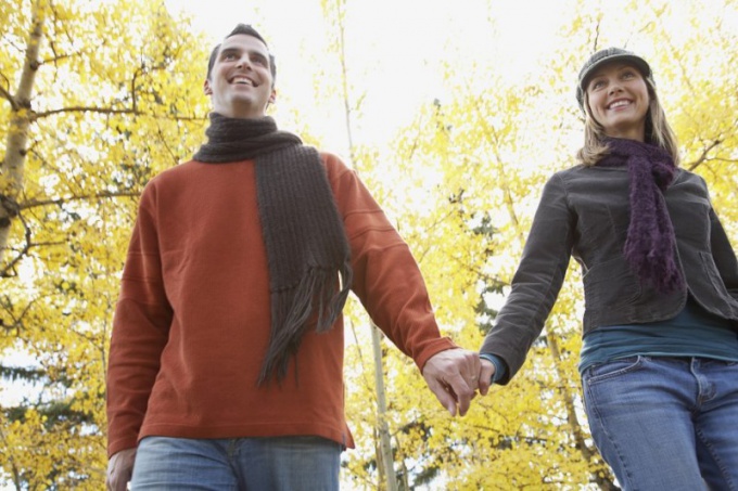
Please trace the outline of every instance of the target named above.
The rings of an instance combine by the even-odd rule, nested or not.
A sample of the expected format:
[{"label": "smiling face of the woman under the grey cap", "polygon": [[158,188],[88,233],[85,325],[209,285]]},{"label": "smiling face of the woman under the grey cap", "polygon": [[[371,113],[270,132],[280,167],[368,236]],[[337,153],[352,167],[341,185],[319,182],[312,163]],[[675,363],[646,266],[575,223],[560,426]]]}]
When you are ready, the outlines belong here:
[{"label": "smiling face of the woman under the grey cap", "polygon": [[586,86],[591,116],[612,138],[642,142],[649,107],[648,86],[635,66],[612,62],[599,67]]}]

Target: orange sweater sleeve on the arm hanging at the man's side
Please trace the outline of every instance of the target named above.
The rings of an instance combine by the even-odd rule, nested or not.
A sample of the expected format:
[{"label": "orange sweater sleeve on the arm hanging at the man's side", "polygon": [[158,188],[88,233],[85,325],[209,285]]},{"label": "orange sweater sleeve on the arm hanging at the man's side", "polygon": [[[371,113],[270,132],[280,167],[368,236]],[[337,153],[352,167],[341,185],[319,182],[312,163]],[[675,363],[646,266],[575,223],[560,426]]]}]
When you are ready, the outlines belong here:
[{"label": "orange sweater sleeve on the arm hanging at the man's side", "polygon": [[173,316],[149,208],[152,194],[147,188],[141,197],[113,319],[106,374],[109,456],[137,445]]}]

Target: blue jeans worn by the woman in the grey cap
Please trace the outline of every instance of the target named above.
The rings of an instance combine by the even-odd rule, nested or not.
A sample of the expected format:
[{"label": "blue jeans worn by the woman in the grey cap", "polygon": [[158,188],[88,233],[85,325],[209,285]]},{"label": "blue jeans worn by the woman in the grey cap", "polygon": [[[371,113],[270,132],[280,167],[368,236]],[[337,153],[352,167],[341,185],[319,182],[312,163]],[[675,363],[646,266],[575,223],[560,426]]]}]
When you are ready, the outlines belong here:
[{"label": "blue jeans worn by the woman in the grey cap", "polygon": [[591,436],[624,490],[738,490],[738,363],[633,357],[582,375]]}]

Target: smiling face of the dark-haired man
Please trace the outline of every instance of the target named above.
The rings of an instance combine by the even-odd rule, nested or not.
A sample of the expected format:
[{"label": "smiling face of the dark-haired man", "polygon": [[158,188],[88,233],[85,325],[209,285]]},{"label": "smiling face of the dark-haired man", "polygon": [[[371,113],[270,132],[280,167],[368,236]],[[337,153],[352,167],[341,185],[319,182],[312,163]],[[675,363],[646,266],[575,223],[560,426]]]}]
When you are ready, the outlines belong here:
[{"label": "smiling face of the dark-haired man", "polygon": [[277,96],[269,68],[269,51],[257,38],[227,38],[204,86],[213,111],[232,118],[263,117]]}]

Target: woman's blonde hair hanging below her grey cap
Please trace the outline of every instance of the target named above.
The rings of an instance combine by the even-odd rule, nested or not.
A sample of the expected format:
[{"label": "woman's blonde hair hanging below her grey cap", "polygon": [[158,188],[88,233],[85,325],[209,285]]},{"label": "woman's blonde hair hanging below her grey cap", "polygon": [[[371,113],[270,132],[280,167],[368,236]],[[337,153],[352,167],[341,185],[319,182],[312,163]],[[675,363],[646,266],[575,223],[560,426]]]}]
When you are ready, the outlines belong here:
[{"label": "woman's blonde hair hanging below her grey cap", "polygon": [[[642,76],[642,74],[641,74]],[[679,151],[674,130],[666,121],[661,102],[657,95],[656,83],[651,77],[644,77],[648,87],[648,113],[646,113],[646,142],[665,150],[674,159],[674,165],[679,165]],[[585,166],[594,166],[602,157],[610,153],[603,140],[607,138],[602,125],[595,120],[589,109],[589,94],[584,91],[584,146],[576,153],[576,158]]]}]

